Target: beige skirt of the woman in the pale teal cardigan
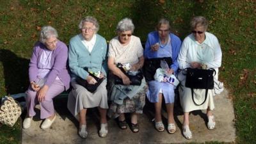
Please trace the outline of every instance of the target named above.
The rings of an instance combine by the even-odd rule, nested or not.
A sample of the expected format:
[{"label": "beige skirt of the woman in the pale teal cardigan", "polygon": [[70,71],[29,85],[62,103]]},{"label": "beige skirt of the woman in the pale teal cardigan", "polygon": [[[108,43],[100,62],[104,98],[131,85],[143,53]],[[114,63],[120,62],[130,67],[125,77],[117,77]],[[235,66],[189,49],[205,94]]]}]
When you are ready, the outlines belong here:
[{"label": "beige skirt of the woman in the pale teal cardigan", "polygon": [[105,79],[94,93],[88,92],[86,88],[72,81],[72,90],[68,94],[68,110],[77,117],[81,109],[100,107],[108,109],[108,92]]}]

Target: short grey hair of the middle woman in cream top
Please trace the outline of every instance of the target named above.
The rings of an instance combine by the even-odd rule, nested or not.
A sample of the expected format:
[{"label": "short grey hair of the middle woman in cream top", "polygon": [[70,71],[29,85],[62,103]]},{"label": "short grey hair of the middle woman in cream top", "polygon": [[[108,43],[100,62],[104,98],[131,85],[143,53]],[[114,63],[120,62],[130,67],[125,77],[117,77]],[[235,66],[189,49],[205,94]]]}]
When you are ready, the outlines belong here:
[{"label": "short grey hair of the middle woman in cream top", "polygon": [[118,22],[117,26],[116,26],[116,32],[120,33],[123,31],[134,31],[134,24],[132,23],[132,20],[129,18],[124,18],[122,20],[120,20],[120,22]]}]

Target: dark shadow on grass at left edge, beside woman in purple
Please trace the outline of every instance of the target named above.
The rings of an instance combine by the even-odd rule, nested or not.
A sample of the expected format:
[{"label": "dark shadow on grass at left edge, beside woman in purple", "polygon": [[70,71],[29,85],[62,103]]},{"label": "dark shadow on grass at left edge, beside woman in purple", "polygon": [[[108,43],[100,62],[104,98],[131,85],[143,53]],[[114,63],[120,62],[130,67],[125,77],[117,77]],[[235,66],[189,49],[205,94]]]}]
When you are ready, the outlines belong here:
[{"label": "dark shadow on grass at left edge, beside woman in purple", "polygon": [[29,60],[19,58],[8,49],[0,49],[0,61],[3,63],[6,93],[25,92],[29,86]]}]

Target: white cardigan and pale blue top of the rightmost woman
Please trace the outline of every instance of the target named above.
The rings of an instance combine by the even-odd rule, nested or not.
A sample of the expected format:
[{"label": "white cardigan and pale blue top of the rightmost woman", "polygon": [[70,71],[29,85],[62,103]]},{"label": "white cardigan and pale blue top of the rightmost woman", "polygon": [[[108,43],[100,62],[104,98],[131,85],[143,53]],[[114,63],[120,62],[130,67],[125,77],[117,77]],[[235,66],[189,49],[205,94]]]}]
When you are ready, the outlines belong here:
[{"label": "white cardigan and pale blue top of the rightmost woman", "polygon": [[180,47],[178,63],[179,68],[190,67],[189,63],[197,61],[205,63],[208,68],[221,66],[221,48],[216,36],[205,32],[205,40],[199,44],[193,34],[188,35]]}]

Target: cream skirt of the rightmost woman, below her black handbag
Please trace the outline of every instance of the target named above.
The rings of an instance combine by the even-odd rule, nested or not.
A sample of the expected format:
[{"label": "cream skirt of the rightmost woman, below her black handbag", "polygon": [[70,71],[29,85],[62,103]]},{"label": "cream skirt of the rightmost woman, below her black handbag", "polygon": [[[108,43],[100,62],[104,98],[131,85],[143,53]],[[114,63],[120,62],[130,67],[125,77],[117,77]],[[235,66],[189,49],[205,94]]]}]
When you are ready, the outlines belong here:
[{"label": "cream skirt of the rightmost woman, below her black handbag", "polygon": [[196,104],[202,104],[201,106],[196,106],[192,99],[191,88],[187,88],[185,86],[186,83],[186,76],[179,72],[178,79],[180,81],[179,86],[179,93],[180,93],[180,105],[184,112],[195,111],[199,109],[214,109],[214,102],[213,102],[213,93],[214,90],[208,90],[207,99],[205,99],[205,90],[203,89],[194,89],[194,100]]}]

